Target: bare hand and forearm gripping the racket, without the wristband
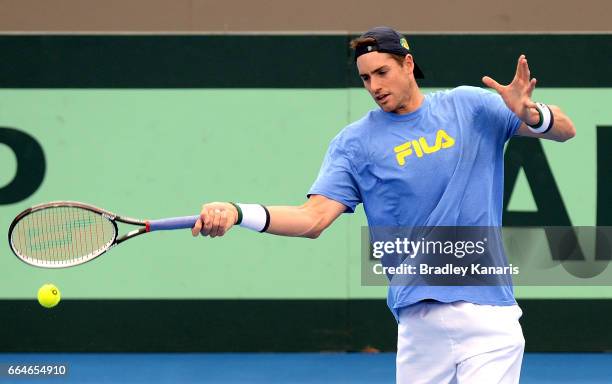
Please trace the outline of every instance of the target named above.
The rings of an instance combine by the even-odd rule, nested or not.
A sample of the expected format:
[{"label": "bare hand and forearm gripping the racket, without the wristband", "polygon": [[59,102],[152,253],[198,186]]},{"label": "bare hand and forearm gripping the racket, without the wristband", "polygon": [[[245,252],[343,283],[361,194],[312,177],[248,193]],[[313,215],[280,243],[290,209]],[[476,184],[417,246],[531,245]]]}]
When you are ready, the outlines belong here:
[{"label": "bare hand and forearm gripping the racket, without the wristband", "polygon": [[[312,195],[301,206],[267,206],[270,225],[267,233],[316,239],[345,210],[346,206],[322,195]],[[192,229],[197,236],[223,236],[236,222],[238,211],[230,203],[204,204]]]}]

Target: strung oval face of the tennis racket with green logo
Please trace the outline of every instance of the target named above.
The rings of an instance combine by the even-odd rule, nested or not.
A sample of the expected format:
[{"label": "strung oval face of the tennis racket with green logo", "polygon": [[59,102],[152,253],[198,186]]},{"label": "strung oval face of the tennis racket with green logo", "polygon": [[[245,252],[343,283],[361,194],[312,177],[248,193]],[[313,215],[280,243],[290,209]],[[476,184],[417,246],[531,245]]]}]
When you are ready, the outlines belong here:
[{"label": "strung oval face of the tennis racket with green logo", "polygon": [[78,207],[49,207],[23,217],[13,229],[17,255],[41,265],[80,262],[97,256],[114,241],[113,223]]}]

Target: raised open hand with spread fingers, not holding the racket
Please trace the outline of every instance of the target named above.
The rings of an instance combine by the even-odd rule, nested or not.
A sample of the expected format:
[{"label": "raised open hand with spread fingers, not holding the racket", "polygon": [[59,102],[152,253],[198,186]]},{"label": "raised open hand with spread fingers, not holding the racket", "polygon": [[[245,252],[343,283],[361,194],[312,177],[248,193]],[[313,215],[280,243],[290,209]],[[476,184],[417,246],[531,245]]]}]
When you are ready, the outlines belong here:
[{"label": "raised open hand with spread fingers, not holding the racket", "polygon": [[539,122],[539,114],[535,109],[535,103],[531,100],[531,93],[535,89],[537,80],[535,78],[530,79],[530,75],[527,58],[525,55],[521,55],[516,65],[516,74],[510,84],[501,85],[489,76],[484,76],[482,82],[487,87],[495,89],[506,106],[519,119],[529,125],[535,125]]}]

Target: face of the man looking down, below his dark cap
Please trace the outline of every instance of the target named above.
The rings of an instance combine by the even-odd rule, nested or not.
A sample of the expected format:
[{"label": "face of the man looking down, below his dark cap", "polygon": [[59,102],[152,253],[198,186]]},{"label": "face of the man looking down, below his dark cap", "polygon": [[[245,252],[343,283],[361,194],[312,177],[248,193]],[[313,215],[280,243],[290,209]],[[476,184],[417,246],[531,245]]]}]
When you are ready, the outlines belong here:
[{"label": "face of the man looking down, below his dark cap", "polygon": [[363,86],[385,112],[406,113],[414,78],[412,56],[400,65],[390,54],[370,52],[357,58]]}]

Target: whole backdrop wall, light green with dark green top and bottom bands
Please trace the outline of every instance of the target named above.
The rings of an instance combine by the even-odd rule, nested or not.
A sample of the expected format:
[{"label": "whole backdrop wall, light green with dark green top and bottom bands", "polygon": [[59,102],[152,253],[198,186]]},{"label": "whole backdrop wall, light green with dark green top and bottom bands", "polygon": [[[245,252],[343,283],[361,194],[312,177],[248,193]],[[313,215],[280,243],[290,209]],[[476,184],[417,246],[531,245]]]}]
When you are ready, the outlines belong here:
[{"label": "whole backdrop wall, light green with dark green top and bottom bands", "polygon": [[[140,218],[194,214],[215,200],[302,203],[331,138],[374,107],[360,89],[351,37],[0,36],[0,228],[60,199]],[[535,173],[519,170],[511,196],[506,182],[506,224],[612,225],[610,35],[408,40],[426,92],[481,86],[483,75],[509,82],[524,53],[538,79],[534,99],[574,120],[578,135],[567,143],[511,142],[506,169],[516,170],[516,153],[542,150],[559,197],[546,199],[551,184],[526,181],[542,170],[536,156],[527,163]],[[17,162],[1,144],[25,134],[42,147],[44,167],[35,145]],[[26,179],[44,174],[33,194],[27,180],[7,191],[17,164]],[[529,216],[534,199],[539,210]],[[542,214],[542,201],[567,218],[554,218],[557,208]],[[394,350],[385,287],[361,286],[364,224],[360,208],[317,240],[240,228],[221,239],[154,233],[53,271],[21,263],[5,241],[0,350]],[[34,300],[48,281],[64,297],[52,311]],[[612,289],[588,284],[516,288],[528,351],[611,349]]]}]

